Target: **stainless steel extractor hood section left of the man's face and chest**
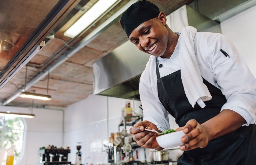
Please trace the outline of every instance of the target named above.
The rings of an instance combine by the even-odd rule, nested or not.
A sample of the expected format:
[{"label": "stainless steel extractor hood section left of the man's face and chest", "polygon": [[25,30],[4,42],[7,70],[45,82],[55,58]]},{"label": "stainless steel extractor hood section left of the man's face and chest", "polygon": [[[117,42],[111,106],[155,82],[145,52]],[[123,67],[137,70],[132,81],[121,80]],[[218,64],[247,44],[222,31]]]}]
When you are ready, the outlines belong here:
[{"label": "stainless steel extractor hood section left of the man's face and chest", "polygon": [[97,60],[94,94],[139,100],[139,78],[149,56],[127,41]]}]

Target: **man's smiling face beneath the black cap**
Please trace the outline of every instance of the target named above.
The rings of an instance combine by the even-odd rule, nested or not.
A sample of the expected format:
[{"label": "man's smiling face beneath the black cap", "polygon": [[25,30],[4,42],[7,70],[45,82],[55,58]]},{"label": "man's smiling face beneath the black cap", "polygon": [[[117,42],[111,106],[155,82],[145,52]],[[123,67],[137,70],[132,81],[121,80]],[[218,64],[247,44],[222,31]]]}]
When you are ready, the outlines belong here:
[{"label": "man's smiling face beneath the black cap", "polygon": [[143,52],[156,57],[167,56],[168,31],[159,17],[140,24],[132,31],[129,40]]}]

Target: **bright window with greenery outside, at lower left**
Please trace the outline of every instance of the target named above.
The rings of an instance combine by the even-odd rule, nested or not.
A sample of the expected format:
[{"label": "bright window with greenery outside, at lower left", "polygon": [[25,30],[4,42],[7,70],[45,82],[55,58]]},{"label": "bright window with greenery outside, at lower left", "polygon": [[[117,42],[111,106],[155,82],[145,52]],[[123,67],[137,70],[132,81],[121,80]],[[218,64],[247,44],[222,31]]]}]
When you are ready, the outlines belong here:
[{"label": "bright window with greenery outside, at lower left", "polygon": [[21,118],[0,116],[0,165],[5,165],[7,151],[12,147],[15,152],[14,164],[22,153],[24,123]]}]

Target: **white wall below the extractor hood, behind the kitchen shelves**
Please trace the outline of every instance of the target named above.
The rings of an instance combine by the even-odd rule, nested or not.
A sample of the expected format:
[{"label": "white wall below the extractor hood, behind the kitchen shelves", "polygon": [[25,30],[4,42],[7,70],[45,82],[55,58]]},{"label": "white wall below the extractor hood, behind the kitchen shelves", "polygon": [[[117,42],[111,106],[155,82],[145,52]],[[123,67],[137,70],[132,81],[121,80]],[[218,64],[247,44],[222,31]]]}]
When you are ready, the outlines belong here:
[{"label": "white wall below the extractor hood, behind the kitchen shelves", "polygon": [[139,112],[140,101],[98,95],[90,95],[65,109],[64,144],[71,148],[69,161],[75,163],[75,142],[82,142],[82,163],[107,163],[103,143],[108,142],[111,132],[118,132],[125,101],[131,101],[131,107]]}]

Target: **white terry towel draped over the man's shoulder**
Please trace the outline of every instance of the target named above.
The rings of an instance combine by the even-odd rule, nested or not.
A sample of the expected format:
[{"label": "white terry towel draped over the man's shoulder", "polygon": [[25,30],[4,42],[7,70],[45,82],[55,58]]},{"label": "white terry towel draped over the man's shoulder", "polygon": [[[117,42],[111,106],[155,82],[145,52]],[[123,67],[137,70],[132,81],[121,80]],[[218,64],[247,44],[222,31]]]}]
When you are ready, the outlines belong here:
[{"label": "white terry towel draped over the man's shoulder", "polygon": [[212,96],[203,83],[201,71],[196,59],[194,37],[197,29],[191,26],[183,27],[180,34],[180,67],[181,80],[189,103],[194,108],[198,103],[202,108],[203,101],[211,100]]}]

